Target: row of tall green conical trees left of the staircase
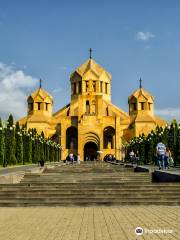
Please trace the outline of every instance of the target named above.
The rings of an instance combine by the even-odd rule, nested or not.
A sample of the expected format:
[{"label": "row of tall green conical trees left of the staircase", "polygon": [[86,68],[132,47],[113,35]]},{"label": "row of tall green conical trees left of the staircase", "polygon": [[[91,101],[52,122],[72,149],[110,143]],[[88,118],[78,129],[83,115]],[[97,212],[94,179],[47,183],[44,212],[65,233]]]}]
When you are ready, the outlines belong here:
[{"label": "row of tall green conical trees left of the staircase", "polygon": [[0,119],[0,165],[58,161],[58,151],[59,144],[46,139],[43,132],[27,130],[27,126],[20,127],[19,122],[15,126],[11,114],[4,128]]}]

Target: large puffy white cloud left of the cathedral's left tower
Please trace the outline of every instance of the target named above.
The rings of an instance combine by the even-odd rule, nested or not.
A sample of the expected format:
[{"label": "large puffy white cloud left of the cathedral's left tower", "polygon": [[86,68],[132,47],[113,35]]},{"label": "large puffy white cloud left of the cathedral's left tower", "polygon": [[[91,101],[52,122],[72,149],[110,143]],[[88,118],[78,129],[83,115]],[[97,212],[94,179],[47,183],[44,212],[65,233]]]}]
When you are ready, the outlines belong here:
[{"label": "large puffy white cloud left of the cathedral's left tower", "polygon": [[26,114],[26,90],[36,83],[36,78],[0,62],[0,116],[12,113],[19,118]]}]

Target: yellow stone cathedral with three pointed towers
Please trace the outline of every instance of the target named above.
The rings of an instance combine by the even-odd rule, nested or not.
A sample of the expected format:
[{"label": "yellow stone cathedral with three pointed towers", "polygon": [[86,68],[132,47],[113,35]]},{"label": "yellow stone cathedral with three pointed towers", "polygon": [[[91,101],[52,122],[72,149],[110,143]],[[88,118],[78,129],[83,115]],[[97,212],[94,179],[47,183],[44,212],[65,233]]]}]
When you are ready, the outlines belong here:
[{"label": "yellow stone cathedral with three pointed towers", "polygon": [[154,97],[140,88],[128,98],[129,114],[111,102],[111,75],[89,58],[70,76],[71,102],[52,113],[53,97],[40,87],[27,99],[20,124],[44,132],[61,145],[61,160],[80,154],[91,160],[107,154],[122,158],[123,144],[166,122],[154,115]]}]

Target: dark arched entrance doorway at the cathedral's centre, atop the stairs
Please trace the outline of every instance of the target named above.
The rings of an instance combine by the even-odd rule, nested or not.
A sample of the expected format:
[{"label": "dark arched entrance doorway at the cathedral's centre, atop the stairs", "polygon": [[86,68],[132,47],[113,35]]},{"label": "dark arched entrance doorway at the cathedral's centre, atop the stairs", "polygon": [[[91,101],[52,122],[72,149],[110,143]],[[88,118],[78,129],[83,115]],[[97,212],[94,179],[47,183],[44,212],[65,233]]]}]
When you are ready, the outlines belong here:
[{"label": "dark arched entrance doorway at the cathedral's centre, atop the stairs", "polygon": [[94,142],[87,142],[84,145],[84,160],[94,161],[97,159],[98,146]]}]

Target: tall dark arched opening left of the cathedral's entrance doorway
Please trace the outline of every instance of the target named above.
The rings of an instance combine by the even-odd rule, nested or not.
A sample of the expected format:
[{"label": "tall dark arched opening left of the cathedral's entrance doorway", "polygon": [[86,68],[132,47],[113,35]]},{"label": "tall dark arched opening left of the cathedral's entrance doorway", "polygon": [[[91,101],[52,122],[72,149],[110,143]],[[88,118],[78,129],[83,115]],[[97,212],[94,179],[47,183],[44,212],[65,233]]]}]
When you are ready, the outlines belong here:
[{"label": "tall dark arched opening left of the cathedral's entrance doorway", "polygon": [[78,148],[78,131],[75,127],[69,127],[66,130],[66,148],[77,149]]}]

